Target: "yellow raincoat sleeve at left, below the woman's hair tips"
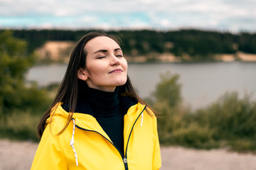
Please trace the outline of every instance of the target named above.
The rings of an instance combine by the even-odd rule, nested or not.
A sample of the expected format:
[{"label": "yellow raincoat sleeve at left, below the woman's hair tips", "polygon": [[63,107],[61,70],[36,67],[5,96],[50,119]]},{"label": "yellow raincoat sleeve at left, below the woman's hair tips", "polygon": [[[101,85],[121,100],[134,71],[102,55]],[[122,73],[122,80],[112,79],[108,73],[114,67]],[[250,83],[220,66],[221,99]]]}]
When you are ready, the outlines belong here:
[{"label": "yellow raincoat sleeve at left, below the woman's hair tips", "polygon": [[53,135],[54,132],[58,132],[57,125],[48,123],[38,145],[31,169],[68,169],[63,153],[61,135]]}]

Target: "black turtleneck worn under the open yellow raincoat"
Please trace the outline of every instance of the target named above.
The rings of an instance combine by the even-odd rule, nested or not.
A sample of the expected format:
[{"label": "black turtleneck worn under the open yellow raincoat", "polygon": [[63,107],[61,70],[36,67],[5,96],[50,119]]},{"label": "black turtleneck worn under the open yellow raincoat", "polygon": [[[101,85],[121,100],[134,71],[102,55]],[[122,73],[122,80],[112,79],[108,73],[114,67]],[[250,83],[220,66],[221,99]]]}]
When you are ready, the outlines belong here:
[{"label": "black turtleneck worn under the open yellow raincoat", "polygon": [[120,109],[118,87],[114,92],[89,87],[80,89],[75,112],[93,115],[114,145],[124,154],[124,109]]}]

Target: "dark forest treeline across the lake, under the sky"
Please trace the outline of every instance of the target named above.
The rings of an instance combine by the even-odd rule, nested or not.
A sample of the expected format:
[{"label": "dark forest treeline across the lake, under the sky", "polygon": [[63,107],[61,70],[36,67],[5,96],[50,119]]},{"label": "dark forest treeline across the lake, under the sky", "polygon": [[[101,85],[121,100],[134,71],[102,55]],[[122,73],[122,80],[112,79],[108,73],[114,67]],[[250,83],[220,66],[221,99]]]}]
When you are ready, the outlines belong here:
[{"label": "dark forest treeline across the lake, under the sky", "polygon": [[[1,30],[3,31],[3,30]],[[26,40],[32,52],[49,40],[78,42],[92,30],[13,30],[14,37]],[[209,30],[109,30],[122,41],[124,54],[131,57],[169,52],[191,60],[213,60],[216,54],[256,54],[256,33],[229,33]]]}]

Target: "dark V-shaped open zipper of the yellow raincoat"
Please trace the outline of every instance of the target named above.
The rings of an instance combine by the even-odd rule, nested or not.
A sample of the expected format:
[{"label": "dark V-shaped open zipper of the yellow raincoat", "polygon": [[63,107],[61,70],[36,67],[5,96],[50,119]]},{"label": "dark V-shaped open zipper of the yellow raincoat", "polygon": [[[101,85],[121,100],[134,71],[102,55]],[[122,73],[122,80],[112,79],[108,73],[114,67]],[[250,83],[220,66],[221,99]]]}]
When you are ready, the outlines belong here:
[{"label": "dark V-shaped open zipper of the yellow raincoat", "polygon": [[[142,110],[142,112],[139,114],[139,116],[137,117],[137,119],[135,120],[134,124],[132,125],[132,130],[134,128],[134,125],[135,123],[137,122],[138,118],[140,117],[140,115],[142,115],[142,113],[144,112],[146,106],[144,107],[144,109]],[[132,135],[132,130],[130,131],[129,133],[129,137],[128,137],[128,140],[127,140],[127,148],[125,149],[125,156],[122,154],[122,152],[120,152],[120,150],[114,145],[114,143],[112,143],[110,140],[108,140],[104,135],[102,135],[100,132],[97,132],[95,130],[87,130],[85,128],[81,128],[80,126],[78,125],[75,125],[76,128],[80,129],[80,130],[85,130],[85,131],[88,131],[88,132],[96,132],[97,134],[101,135],[102,137],[104,137],[108,142],[110,142],[116,149],[117,151],[119,152],[119,154],[121,155],[122,157],[122,161],[124,162],[124,168],[125,170],[128,170],[128,163],[127,163],[127,149],[128,149],[128,144],[129,144],[129,139]]]}]

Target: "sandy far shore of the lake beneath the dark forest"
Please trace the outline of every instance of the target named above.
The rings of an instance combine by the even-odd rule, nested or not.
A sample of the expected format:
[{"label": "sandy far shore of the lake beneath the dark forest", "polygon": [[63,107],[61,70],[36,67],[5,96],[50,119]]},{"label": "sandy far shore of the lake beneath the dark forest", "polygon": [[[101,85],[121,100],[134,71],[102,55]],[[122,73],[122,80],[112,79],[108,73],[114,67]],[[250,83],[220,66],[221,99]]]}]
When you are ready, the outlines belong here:
[{"label": "sandy far shore of the lake beneath the dark forest", "polygon": [[[42,63],[63,63],[69,61],[70,52],[75,45],[72,41],[48,41],[43,47],[36,50],[39,56],[39,62]],[[149,63],[149,62],[209,62],[209,61],[193,61],[189,55],[183,57],[175,56],[169,52],[150,53],[148,55],[125,56],[129,63]],[[236,52],[235,54],[215,54],[213,62],[256,62],[256,54],[248,54],[245,52]]]}]

